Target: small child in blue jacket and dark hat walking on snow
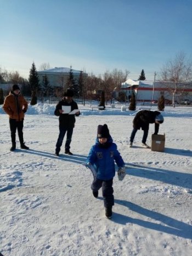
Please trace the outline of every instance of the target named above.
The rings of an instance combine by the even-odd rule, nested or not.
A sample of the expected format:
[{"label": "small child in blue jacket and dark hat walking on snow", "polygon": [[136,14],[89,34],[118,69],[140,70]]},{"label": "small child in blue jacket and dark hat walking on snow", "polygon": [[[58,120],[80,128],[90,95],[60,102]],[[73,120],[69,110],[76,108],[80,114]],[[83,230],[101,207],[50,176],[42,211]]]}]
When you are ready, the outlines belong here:
[{"label": "small child in blue jacket and dark hat walking on snow", "polygon": [[107,218],[111,218],[112,205],[114,205],[114,190],[112,188],[115,176],[114,161],[119,171],[125,173],[125,163],[117,150],[117,145],[112,142],[108,126],[106,124],[98,125],[97,139],[89,151],[86,164],[93,172],[94,180],[91,189],[95,198],[98,197],[98,190],[102,187]]}]

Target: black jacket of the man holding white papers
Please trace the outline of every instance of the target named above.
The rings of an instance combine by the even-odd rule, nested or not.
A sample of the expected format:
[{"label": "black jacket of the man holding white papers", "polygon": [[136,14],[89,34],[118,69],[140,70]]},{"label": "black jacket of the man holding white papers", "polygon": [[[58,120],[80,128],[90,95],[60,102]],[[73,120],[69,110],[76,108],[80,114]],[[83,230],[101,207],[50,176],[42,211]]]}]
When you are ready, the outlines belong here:
[{"label": "black jacket of the man holding white papers", "polygon": [[75,101],[72,101],[71,103],[68,103],[65,98],[61,99],[59,103],[57,104],[55,108],[54,114],[59,116],[59,126],[64,127],[67,129],[71,129],[75,127],[75,115],[79,116],[80,114],[61,114],[59,112],[59,109],[62,109],[62,106],[71,106],[71,111],[74,109],[78,109],[77,103]]}]

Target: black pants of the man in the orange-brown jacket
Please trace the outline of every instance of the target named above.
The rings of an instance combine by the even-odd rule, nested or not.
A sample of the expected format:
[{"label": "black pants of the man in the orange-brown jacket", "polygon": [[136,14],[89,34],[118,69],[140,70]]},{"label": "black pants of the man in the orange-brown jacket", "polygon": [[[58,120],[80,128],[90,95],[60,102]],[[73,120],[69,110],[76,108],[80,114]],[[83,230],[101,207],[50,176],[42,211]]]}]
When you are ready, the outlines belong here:
[{"label": "black pants of the man in the orange-brown jacket", "polygon": [[24,120],[16,121],[16,119],[9,118],[10,136],[12,137],[12,144],[16,144],[16,129],[18,129],[19,142],[24,143],[22,129],[24,127]]}]

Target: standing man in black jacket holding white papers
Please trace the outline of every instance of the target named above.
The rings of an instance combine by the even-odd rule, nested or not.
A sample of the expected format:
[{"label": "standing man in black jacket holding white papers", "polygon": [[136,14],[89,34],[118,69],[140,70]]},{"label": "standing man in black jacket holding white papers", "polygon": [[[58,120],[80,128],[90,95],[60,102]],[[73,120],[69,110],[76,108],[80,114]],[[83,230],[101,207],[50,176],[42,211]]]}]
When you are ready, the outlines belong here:
[{"label": "standing man in black jacket holding white papers", "polygon": [[[80,115],[80,111],[76,112],[75,114],[70,114],[72,110],[78,109],[77,103],[72,99],[73,96],[74,92],[71,89],[67,89],[64,93],[63,99],[59,101],[54,112],[55,115],[59,116],[59,137],[55,148],[55,155],[57,155],[58,157],[65,133],[67,133],[65,142],[65,154],[72,155],[72,153],[70,152],[70,143],[72,133],[75,127],[75,115]],[[68,108],[64,110],[65,107],[62,108],[62,106],[68,106]]]}]

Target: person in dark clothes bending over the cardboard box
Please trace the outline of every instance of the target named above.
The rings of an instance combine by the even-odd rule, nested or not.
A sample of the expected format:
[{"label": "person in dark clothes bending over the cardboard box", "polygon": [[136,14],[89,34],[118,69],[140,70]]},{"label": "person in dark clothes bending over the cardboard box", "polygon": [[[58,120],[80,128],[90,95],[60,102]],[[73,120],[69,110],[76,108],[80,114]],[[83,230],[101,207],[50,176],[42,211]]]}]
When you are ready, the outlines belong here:
[{"label": "person in dark clothes bending over the cardboard box", "polygon": [[132,147],[133,140],[137,130],[142,128],[143,130],[143,139],[142,139],[142,146],[144,148],[150,148],[146,144],[146,139],[148,137],[149,131],[149,124],[155,123],[155,132],[157,134],[159,132],[159,125],[163,123],[163,116],[159,111],[151,111],[151,110],[140,110],[133,119],[133,130],[130,137],[129,147]]}]

